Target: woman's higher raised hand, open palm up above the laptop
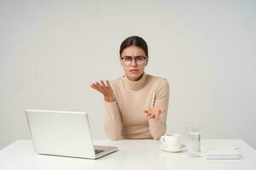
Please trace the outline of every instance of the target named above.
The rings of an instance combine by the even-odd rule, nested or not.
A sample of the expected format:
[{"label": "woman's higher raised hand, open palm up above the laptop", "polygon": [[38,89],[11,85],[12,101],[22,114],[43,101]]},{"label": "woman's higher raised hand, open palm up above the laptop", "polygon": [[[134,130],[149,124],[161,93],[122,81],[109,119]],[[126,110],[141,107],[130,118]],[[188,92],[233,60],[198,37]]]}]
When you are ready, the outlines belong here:
[{"label": "woman's higher raised hand, open palm up above the laptop", "polygon": [[94,82],[90,84],[90,88],[96,89],[96,91],[103,94],[105,101],[113,102],[115,100],[115,96],[113,94],[113,89],[110,86],[108,80],[106,82]]}]

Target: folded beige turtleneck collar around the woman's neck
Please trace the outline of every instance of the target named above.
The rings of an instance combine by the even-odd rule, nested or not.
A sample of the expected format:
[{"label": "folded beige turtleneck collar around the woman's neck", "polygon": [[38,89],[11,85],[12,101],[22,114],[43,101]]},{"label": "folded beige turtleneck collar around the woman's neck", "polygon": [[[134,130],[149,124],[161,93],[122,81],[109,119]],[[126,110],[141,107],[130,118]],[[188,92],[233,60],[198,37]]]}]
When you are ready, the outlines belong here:
[{"label": "folded beige turtleneck collar around the woman's neck", "polygon": [[141,77],[137,82],[132,82],[126,76],[124,77],[124,82],[125,82],[125,86],[127,86],[131,90],[138,90],[144,87],[145,82],[147,82],[147,79],[148,79],[148,75],[143,73],[143,77]]}]

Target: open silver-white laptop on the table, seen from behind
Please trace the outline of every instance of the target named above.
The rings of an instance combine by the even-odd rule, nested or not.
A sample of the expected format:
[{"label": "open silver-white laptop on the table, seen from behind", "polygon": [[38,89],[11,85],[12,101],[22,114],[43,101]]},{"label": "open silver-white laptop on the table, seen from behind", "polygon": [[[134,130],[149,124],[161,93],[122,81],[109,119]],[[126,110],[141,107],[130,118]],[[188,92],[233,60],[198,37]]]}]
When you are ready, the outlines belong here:
[{"label": "open silver-white laptop on the table, seen from behind", "polygon": [[26,110],[26,118],[38,154],[96,159],[118,149],[93,144],[85,112]]}]

